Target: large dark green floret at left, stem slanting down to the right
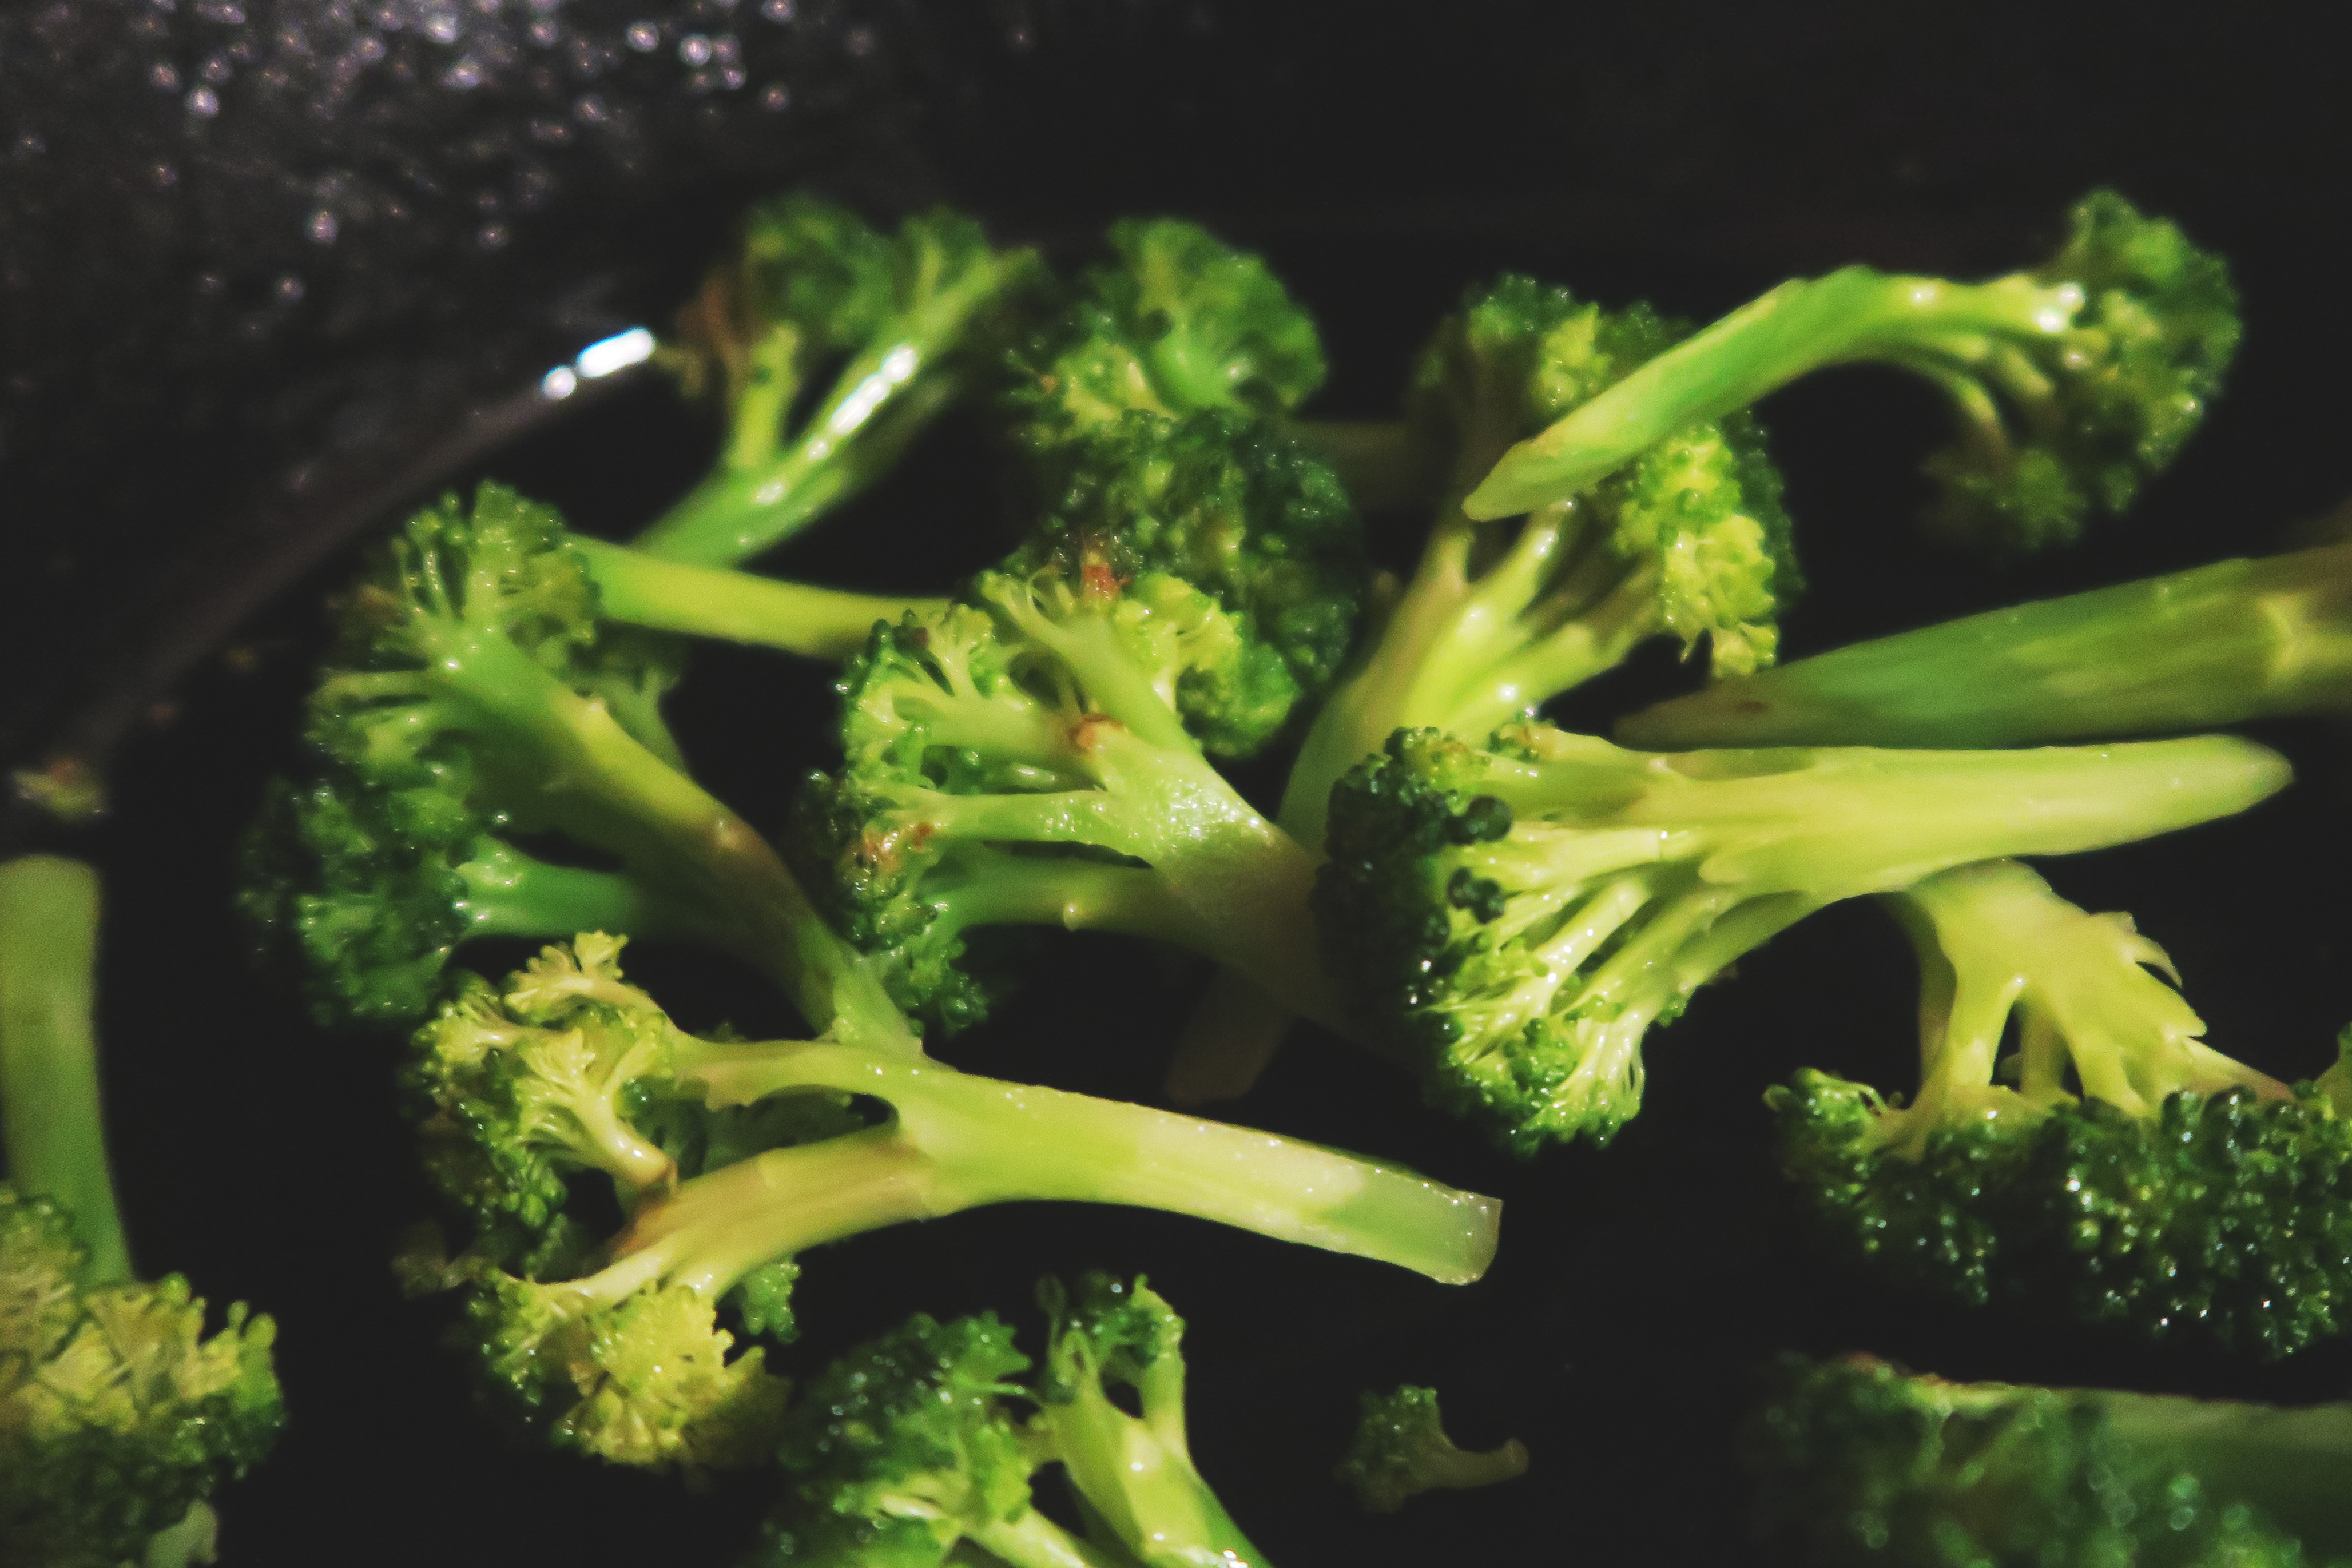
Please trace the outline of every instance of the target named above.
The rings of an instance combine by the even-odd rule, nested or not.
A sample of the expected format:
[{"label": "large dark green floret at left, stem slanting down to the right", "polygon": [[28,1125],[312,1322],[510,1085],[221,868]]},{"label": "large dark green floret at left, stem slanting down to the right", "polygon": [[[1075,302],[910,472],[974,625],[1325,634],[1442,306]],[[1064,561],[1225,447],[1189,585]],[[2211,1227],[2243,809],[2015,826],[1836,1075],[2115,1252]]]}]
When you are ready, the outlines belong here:
[{"label": "large dark green floret at left, stem slanting down to the right", "polygon": [[595,611],[557,515],[496,484],[376,552],[310,696],[320,773],[278,790],[242,896],[306,959],[315,1011],[409,1023],[466,940],[612,926],[736,952],[844,1032],[898,1032],[880,980],[802,950],[800,886],[687,778]]}]

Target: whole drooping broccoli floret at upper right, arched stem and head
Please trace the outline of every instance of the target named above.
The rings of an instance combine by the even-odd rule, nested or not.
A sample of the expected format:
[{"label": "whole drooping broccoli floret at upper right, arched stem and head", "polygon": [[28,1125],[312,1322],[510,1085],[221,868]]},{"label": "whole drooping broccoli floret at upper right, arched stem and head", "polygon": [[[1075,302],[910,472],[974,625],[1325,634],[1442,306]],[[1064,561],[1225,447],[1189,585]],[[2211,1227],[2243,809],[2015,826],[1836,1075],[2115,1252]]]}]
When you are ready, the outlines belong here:
[{"label": "whole drooping broccoli floret at upper right, arched stem and head", "polygon": [[1867,360],[1952,400],[1959,435],[1926,468],[1943,527],[2065,543],[2173,461],[2239,339],[2225,266],[2173,223],[2098,190],[2070,226],[2056,256],[1983,284],[1860,266],[1785,282],[1512,447],[1463,508],[1569,501],[1675,430]]}]

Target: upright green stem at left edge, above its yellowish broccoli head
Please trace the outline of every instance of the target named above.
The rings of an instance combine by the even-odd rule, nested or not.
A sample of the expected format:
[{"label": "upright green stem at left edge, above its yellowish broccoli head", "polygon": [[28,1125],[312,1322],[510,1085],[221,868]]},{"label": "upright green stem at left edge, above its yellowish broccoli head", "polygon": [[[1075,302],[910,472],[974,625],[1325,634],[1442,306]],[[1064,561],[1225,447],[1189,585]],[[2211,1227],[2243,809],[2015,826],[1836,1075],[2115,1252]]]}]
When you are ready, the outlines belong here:
[{"label": "upright green stem at left edge, above its yellowish broccoli head", "polygon": [[85,1286],[132,1279],[106,1164],[92,983],[99,875],[80,860],[0,865],[0,1143],[7,1178],[73,1215]]}]

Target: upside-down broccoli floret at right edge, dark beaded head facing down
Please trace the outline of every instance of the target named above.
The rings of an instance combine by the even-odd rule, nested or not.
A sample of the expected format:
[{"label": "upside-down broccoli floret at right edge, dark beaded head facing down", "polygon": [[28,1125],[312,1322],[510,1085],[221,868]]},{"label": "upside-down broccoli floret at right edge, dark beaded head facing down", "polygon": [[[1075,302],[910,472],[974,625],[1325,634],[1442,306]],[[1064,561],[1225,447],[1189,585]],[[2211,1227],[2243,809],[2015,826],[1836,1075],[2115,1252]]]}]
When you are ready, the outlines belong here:
[{"label": "upside-down broccoli floret at right edge, dark beaded head facing down", "polygon": [[1917,1098],[1823,1072],[1771,1093],[1788,1175],[1842,1246],[1971,1305],[2263,1356],[2352,1328],[2336,1105],[2197,1039],[2154,943],[2020,865],[1891,903],[1922,966]]}]

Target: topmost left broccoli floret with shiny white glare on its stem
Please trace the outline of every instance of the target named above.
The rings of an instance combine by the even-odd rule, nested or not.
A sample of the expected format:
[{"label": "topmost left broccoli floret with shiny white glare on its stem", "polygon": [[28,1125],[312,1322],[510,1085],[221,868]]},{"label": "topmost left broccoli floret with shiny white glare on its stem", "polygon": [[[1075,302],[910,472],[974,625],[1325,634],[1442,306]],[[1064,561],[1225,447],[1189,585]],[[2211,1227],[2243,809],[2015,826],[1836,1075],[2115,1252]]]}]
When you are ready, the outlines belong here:
[{"label": "topmost left broccoli floret with shiny white glare on its stem", "polygon": [[[809,195],[753,209],[739,256],[682,322],[689,386],[722,386],[727,444],[637,548],[734,567],[866,489],[967,395],[997,317],[1035,273],[1033,252],[995,252],[950,212],[910,216],[882,237]],[[802,390],[828,364],[840,367],[830,388],[795,423]]]}]

